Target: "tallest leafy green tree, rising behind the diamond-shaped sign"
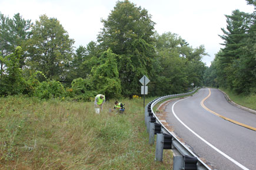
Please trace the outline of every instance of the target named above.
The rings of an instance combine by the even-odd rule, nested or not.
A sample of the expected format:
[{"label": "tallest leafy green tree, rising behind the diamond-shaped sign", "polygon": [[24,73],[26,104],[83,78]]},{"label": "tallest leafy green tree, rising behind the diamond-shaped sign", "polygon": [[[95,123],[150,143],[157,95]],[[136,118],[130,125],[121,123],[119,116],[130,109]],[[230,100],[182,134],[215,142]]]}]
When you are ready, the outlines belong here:
[{"label": "tallest leafy green tree, rising behind the diamond-shaped sign", "polygon": [[118,63],[122,94],[138,94],[139,79],[152,73],[152,60],[155,57],[153,46],[154,25],[148,11],[129,1],[118,1],[98,35],[100,48],[111,48]]}]

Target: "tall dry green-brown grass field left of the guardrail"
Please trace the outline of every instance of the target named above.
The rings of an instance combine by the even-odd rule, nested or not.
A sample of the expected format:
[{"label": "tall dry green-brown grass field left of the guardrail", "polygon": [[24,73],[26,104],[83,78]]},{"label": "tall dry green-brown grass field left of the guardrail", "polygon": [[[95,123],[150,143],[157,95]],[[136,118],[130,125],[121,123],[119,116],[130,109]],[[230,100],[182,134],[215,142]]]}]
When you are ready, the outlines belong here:
[{"label": "tall dry green-brown grass field left of the guardrail", "polygon": [[[145,103],[153,100],[146,98]],[[154,161],[143,99],[124,99],[125,113],[94,113],[94,104],[0,98],[0,169],[172,169],[172,154]]]}]

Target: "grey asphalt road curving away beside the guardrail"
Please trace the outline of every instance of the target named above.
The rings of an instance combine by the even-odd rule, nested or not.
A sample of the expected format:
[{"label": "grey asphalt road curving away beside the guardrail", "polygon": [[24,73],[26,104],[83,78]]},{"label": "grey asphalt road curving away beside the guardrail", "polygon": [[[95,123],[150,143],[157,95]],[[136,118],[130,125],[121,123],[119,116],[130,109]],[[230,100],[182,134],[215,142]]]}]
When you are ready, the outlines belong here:
[{"label": "grey asphalt road curving away beside the guardrail", "polygon": [[[232,106],[217,89],[204,101],[208,109],[256,128],[256,114]],[[201,101],[210,94],[201,89],[194,96],[175,100],[165,111],[175,134],[212,169],[256,170],[256,131],[224,120],[205,110]]]}]

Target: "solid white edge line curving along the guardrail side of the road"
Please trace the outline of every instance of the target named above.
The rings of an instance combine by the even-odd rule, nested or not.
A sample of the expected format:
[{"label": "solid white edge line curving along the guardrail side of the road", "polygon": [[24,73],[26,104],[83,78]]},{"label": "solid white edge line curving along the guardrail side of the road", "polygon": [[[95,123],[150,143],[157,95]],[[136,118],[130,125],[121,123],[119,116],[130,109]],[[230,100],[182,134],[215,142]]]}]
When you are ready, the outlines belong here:
[{"label": "solid white edge line curving along the guardrail side of the road", "polygon": [[[189,97],[188,97],[189,98]],[[184,98],[182,100],[185,100],[187,98]],[[177,118],[177,120],[184,125],[184,127],[186,127],[189,131],[191,131],[194,135],[196,135],[198,138],[200,138],[200,140],[202,140],[203,142],[205,142],[207,145],[209,145],[212,149],[214,149],[215,151],[219,152],[221,155],[223,155],[225,158],[229,159],[230,161],[232,161],[235,165],[239,166],[242,169],[246,169],[246,170],[250,170],[248,168],[246,168],[244,165],[240,164],[239,162],[235,161],[233,158],[231,158],[230,156],[228,156],[227,154],[225,154],[224,152],[220,151],[220,149],[214,147],[214,145],[210,144],[210,142],[206,141],[204,138],[200,137],[200,135],[198,135],[196,132],[192,131],[191,128],[189,128],[187,125],[185,125],[179,118],[178,116],[175,114],[174,112],[174,106],[176,103],[178,103],[181,100],[176,101],[173,105],[172,105],[172,113],[174,114],[174,116]]]}]

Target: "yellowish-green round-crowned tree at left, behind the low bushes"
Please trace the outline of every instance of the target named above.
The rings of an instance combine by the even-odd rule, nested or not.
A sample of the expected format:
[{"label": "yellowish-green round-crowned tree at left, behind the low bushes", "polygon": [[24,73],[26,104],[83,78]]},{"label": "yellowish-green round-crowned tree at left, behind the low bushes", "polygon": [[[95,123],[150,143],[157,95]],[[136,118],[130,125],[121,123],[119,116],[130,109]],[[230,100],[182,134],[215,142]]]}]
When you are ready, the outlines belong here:
[{"label": "yellowish-green round-crowned tree at left, behind the low bushes", "polygon": [[67,77],[67,65],[71,61],[74,40],[56,18],[40,16],[32,27],[29,40],[28,66],[38,70],[51,80],[64,80]]}]

